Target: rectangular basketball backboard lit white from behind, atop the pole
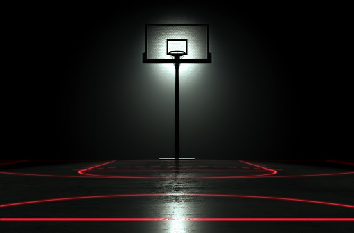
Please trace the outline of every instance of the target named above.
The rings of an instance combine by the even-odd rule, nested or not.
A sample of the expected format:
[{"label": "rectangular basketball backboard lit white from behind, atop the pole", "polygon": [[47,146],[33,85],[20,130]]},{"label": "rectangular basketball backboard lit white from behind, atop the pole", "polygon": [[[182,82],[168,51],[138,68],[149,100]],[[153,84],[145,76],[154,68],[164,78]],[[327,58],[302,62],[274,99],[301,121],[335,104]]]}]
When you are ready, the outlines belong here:
[{"label": "rectangular basketball backboard lit white from behind, atop the pole", "polygon": [[211,63],[208,24],[146,24],[143,63]]}]

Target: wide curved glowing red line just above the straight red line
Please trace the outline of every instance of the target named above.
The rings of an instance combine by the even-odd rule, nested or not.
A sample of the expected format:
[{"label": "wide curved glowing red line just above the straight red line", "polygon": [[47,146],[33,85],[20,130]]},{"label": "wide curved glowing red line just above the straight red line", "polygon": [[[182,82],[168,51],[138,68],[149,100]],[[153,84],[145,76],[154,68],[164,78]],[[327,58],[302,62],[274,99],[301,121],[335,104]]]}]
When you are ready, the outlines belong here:
[{"label": "wide curved glowing red line just above the straight red line", "polygon": [[354,205],[329,203],[326,201],[313,201],[313,200],[305,200],[305,199],[297,199],[297,198],[281,198],[281,197],[273,197],[273,196],[249,196],[249,195],[233,195],[233,194],[116,194],[116,195],[100,195],[100,196],[76,196],[76,197],[68,197],[68,198],[52,198],[52,199],[43,199],[37,201],[8,203],[8,204],[0,205],[0,207],[9,207],[15,205],[26,205],[26,204],[34,204],[34,203],[46,203],[46,202],[53,202],[53,201],[82,200],[82,199],[91,199],[91,198],[118,198],[118,197],[142,197],[142,196],[207,196],[207,197],[223,197],[223,198],[258,198],[258,199],[266,199],[266,200],[297,201],[302,203],[335,205],[339,207],[347,207],[347,208],[354,209]]}]

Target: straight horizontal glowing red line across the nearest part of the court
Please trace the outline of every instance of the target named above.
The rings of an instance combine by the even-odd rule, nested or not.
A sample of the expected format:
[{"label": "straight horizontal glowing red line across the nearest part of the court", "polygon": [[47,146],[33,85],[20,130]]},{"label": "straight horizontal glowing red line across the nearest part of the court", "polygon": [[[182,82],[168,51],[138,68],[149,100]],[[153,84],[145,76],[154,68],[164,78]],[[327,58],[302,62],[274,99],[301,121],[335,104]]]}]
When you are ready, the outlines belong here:
[{"label": "straight horizontal glowing red line across the nearest part of the court", "polygon": [[0,221],[354,221],[354,218],[0,218]]}]

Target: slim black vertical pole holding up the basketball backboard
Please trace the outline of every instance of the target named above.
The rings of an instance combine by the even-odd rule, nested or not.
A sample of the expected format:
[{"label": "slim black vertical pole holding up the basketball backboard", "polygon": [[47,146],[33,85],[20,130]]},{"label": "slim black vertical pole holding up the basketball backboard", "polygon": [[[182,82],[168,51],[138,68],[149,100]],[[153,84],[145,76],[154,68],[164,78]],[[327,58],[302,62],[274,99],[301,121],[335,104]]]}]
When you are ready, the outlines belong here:
[{"label": "slim black vertical pole holding up the basketball backboard", "polygon": [[179,159],[179,63],[175,63],[175,159]]}]

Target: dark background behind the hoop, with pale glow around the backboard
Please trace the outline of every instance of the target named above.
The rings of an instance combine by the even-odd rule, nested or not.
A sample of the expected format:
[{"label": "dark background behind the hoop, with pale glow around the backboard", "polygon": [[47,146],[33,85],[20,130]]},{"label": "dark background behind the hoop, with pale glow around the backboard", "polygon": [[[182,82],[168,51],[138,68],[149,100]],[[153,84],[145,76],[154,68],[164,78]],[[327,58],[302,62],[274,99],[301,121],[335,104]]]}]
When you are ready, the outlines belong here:
[{"label": "dark background behind the hoop, with pale glow around the backboard", "polygon": [[353,154],[345,12],[186,3],[8,12],[4,159],[174,156],[174,81],[142,64],[148,23],[210,26],[213,63],[181,83],[181,157]]}]

